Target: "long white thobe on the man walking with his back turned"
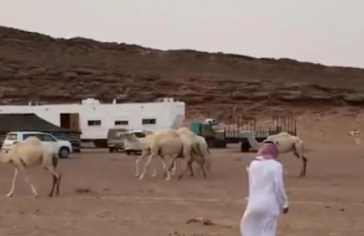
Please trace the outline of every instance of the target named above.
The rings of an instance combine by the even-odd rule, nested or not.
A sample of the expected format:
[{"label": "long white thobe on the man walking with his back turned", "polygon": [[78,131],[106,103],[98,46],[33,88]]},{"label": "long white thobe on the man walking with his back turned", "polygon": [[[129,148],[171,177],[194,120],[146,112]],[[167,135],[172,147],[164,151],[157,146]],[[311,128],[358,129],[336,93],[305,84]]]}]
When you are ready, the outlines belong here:
[{"label": "long white thobe on the man walking with his back turned", "polygon": [[283,167],[276,160],[250,163],[249,197],[240,223],[242,236],[275,236],[277,218],[288,207],[283,184]]}]

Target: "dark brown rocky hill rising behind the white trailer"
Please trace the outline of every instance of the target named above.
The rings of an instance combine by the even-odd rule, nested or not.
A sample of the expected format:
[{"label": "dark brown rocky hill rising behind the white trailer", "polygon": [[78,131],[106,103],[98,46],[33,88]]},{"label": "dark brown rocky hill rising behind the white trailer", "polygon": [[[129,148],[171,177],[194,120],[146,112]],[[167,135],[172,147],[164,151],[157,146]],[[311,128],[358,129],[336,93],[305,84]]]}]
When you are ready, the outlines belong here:
[{"label": "dark brown rocky hill rising behind the white trailer", "polygon": [[[121,39],[122,40],[122,39]],[[364,69],[292,59],[156,50],[0,26],[0,102],[183,100],[194,112],[363,106]]]}]

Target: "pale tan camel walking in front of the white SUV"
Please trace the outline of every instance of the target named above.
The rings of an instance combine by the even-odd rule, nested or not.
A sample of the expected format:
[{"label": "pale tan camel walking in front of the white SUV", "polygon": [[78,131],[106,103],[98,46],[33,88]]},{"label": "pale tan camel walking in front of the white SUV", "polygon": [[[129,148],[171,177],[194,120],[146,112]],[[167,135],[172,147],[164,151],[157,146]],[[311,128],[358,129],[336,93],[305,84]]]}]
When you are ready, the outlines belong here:
[{"label": "pale tan camel walking in front of the white SUV", "polygon": [[12,186],[7,197],[11,197],[15,190],[16,177],[19,170],[23,173],[25,182],[27,182],[33,192],[34,197],[38,196],[37,190],[31,183],[25,169],[42,165],[53,176],[53,185],[49,197],[53,196],[56,189],[56,195],[59,195],[59,186],[62,175],[56,171],[58,156],[46,147],[41,145],[41,141],[35,136],[29,136],[24,142],[14,144],[9,153],[4,153],[0,162],[11,163],[15,165],[15,171],[12,179]]}]

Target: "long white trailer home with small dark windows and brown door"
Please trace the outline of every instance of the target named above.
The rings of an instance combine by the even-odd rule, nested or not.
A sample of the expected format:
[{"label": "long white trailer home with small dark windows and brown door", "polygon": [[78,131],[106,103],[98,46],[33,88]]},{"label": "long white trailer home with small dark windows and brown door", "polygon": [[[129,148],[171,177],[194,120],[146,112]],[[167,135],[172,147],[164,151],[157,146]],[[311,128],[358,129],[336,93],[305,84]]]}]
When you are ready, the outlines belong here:
[{"label": "long white trailer home with small dark windows and brown door", "polygon": [[112,103],[100,103],[87,98],[76,104],[0,105],[0,114],[8,113],[35,113],[59,127],[81,131],[82,141],[105,142],[106,145],[110,128],[153,131],[180,127],[185,118],[185,103],[173,98],[149,103],[116,103],[115,99]]}]

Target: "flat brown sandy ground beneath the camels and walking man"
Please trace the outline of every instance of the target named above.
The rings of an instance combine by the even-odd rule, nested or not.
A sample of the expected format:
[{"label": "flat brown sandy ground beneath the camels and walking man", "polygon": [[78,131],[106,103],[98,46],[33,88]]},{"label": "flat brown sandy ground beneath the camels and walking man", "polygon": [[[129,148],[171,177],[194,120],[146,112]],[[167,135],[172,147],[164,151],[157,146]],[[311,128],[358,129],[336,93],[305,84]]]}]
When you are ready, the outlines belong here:
[{"label": "flat brown sandy ground beneath the camels and walking man", "polygon": [[[279,222],[279,234],[289,236],[363,235],[364,159],[362,149],[309,149],[308,173],[297,178],[300,161],[281,156],[288,174],[290,212]],[[84,151],[60,160],[64,175],[61,195],[48,198],[51,177],[42,169],[29,170],[40,197],[34,199],[21,175],[13,198],[13,169],[0,166],[0,235],[239,235],[245,207],[245,166],[253,153],[238,148],[213,150],[208,179],[199,174],[181,181],[162,179],[161,171],[139,181],[134,157],[106,150]],[[197,169],[197,168],[196,168]],[[90,190],[80,193],[77,190]],[[206,218],[215,225],[187,224]]]}]

